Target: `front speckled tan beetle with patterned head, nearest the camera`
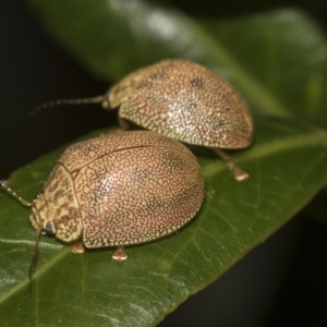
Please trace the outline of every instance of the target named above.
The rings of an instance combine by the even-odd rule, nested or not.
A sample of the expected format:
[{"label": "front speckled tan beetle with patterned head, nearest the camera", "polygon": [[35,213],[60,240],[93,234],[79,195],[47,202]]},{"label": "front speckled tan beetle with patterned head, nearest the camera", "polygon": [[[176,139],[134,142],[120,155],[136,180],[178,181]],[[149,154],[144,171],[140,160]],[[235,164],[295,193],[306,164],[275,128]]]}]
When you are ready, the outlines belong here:
[{"label": "front speckled tan beetle with patterned head, nearest the camera", "polygon": [[204,180],[194,155],[181,143],[150,131],[119,132],[70,146],[32,206],[35,266],[41,232],[74,242],[72,252],[123,246],[168,235],[199,210]]}]

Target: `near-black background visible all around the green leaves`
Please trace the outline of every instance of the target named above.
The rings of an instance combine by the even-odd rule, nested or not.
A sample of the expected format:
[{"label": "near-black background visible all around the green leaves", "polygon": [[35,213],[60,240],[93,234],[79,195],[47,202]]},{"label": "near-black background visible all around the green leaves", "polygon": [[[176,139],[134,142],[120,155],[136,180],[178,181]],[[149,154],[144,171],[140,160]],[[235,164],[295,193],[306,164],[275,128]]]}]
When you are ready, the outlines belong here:
[{"label": "near-black background visible all around the green leaves", "polygon": [[[296,7],[327,31],[325,0],[201,1],[201,7],[198,1],[170,2],[190,15],[211,19]],[[83,71],[48,37],[23,1],[1,1],[0,45],[0,179],[64,143],[116,122],[114,112],[96,105],[28,116],[44,101],[104,94],[110,81]],[[292,219],[160,326],[327,326],[327,228],[308,218],[302,213]]]}]

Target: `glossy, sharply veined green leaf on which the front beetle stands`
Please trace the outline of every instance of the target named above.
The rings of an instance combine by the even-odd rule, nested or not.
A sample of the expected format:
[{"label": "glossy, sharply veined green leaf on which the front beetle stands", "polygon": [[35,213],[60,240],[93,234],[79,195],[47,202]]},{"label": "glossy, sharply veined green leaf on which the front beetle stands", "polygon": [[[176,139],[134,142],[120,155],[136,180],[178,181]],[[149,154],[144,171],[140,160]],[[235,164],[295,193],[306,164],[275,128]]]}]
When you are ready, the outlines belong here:
[{"label": "glossy, sharply veined green leaf on which the front beetle stands", "polygon": [[[111,249],[73,255],[68,245],[43,237],[29,282],[35,243],[29,209],[1,192],[4,326],[22,320],[31,326],[148,326],[218,278],[292,217],[327,179],[325,133],[274,119],[256,120],[256,126],[255,145],[233,156],[251,179],[237,182],[210,153],[201,154],[207,195],[199,215],[177,235],[128,247],[129,259],[122,264],[111,259]],[[33,198],[60,153],[16,171],[11,186]]]}]

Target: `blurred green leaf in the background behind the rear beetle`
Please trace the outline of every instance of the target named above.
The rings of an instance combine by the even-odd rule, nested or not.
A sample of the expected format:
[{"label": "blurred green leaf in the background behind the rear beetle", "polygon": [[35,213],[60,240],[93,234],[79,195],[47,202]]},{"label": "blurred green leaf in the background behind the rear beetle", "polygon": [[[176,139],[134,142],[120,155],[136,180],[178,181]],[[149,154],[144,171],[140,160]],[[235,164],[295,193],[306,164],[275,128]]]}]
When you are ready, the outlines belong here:
[{"label": "blurred green leaf in the background behind the rear beetle", "polygon": [[94,74],[119,80],[169,57],[232,82],[258,113],[327,126],[327,44],[302,12],[191,20],[136,0],[26,0],[45,27]]}]

